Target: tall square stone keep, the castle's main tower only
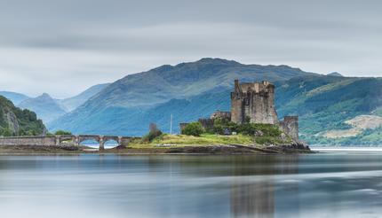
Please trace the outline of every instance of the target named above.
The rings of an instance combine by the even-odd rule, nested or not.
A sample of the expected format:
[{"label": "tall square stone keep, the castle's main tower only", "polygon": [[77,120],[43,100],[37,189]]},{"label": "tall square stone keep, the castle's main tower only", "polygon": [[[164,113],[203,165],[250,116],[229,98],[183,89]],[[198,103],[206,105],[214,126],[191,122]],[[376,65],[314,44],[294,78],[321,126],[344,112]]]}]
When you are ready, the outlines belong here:
[{"label": "tall square stone keep, the castle's main tower only", "polygon": [[231,121],[276,124],[275,85],[263,82],[240,83],[231,92]]}]

